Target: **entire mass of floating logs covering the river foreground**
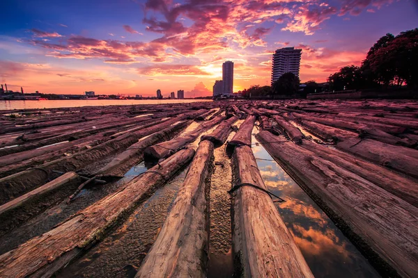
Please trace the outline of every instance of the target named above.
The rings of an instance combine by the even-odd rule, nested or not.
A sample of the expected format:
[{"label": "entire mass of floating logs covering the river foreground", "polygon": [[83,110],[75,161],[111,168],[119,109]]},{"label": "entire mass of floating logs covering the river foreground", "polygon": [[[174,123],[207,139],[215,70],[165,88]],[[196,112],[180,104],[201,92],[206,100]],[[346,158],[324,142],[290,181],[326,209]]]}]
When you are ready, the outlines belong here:
[{"label": "entire mass of floating logs covering the river foreground", "polygon": [[[77,202],[65,199],[82,195],[84,186],[109,186],[106,195],[70,218],[0,254],[0,277],[52,277],[65,271],[189,162],[136,277],[206,277],[215,148],[232,159],[234,275],[313,277],[266,192],[251,150],[252,133],[382,276],[418,276],[416,101],[33,109],[1,111],[0,124],[0,240],[41,213],[52,219],[49,210],[72,207]],[[118,183],[145,159],[148,165],[148,158],[153,167]]]}]

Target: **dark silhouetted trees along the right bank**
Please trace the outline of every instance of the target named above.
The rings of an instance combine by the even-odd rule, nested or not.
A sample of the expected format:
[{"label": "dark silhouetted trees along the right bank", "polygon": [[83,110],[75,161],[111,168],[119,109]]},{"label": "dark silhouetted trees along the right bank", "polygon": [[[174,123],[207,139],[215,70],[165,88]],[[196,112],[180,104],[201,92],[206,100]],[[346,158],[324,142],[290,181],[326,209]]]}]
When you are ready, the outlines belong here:
[{"label": "dark silhouetted trees along the right bank", "polygon": [[341,67],[320,86],[307,81],[300,88],[300,79],[291,72],[279,77],[272,86],[252,85],[240,91],[243,97],[288,95],[306,97],[321,90],[381,90],[387,88],[418,89],[418,28],[394,36],[387,33],[367,52],[362,65]]}]

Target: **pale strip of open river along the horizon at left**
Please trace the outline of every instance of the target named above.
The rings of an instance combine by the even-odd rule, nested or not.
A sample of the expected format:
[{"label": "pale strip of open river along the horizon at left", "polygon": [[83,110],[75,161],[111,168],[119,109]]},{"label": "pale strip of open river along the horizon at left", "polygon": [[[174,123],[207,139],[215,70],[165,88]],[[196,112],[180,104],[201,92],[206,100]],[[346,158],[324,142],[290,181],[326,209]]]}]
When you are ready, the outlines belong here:
[{"label": "pale strip of open river along the horizon at left", "polygon": [[1,100],[1,110],[43,109],[82,106],[140,105],[140,104],[180,104],[212,99],[57,99],[57,100]]}]

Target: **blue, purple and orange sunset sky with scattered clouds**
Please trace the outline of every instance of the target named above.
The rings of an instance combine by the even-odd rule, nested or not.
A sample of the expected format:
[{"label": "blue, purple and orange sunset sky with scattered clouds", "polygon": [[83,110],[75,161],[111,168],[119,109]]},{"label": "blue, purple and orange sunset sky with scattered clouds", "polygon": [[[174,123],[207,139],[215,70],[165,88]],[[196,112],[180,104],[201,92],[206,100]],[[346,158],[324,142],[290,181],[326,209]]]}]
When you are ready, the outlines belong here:
[{"label": "blue, purple and orange sunset sky with scattered clouds", "polygon": [[9,90],[212,95],[270,85],[272,52],[302,50],[301,81],[359,65],[378,38],[418,27],[415,0],[6,0],[0,76]]}]

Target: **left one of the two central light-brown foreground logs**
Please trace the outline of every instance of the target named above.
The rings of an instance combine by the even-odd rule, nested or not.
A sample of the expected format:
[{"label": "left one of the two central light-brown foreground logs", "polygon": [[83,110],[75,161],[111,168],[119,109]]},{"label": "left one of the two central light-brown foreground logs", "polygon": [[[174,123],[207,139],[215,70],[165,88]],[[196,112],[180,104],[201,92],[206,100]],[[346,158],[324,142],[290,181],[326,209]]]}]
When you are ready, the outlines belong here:
[{"label": "left one of the two central light-brown foreground logs", "polygon": [[200,142],[173,208],[135,277],[206,277],[208,199],[206,183],[214,146]]}]

